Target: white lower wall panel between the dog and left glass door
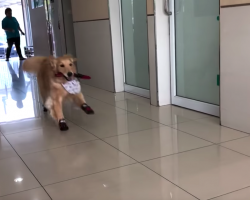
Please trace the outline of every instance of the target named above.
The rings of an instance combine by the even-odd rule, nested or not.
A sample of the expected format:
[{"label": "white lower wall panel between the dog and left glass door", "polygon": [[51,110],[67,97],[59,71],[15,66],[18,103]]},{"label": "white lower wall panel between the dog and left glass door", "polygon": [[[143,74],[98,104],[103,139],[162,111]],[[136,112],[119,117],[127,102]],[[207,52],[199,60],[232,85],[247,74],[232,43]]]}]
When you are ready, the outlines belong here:
[{"label": "white lower wall panel between the dog and left glass door", "polygon": [[83,82],[113,92],[109,20],[74,23],[74,32],[78,71],[91,76]]}]

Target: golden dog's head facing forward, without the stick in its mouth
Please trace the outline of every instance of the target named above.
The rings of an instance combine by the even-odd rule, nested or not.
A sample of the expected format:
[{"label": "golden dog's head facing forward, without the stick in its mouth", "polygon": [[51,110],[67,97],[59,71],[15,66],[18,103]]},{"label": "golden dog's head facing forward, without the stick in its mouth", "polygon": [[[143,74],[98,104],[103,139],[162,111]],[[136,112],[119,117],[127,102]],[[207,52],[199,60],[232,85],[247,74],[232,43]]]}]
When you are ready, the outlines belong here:
[{"label": "golden dog's head facing forward, without the stick in its mouth", "polygon": [[58,58],[51,58],[51,65],[55,73],[61,73],[68,81],[74,78],[76,73],[75,58],[65,55]]}]

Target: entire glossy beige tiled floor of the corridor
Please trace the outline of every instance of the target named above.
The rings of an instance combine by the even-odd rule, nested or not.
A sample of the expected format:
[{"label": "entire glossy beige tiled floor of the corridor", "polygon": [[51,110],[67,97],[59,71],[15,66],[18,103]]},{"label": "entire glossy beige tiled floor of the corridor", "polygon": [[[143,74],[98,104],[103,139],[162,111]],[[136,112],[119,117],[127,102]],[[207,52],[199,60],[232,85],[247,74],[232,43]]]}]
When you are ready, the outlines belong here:
[{"label": "entire glossy beige tiled floor of the corridor", "polygon": [[0,63],[0,200],[248,200],[250,137],[219,119],[83,85],[96,114],[41,112],[36,79]]}]

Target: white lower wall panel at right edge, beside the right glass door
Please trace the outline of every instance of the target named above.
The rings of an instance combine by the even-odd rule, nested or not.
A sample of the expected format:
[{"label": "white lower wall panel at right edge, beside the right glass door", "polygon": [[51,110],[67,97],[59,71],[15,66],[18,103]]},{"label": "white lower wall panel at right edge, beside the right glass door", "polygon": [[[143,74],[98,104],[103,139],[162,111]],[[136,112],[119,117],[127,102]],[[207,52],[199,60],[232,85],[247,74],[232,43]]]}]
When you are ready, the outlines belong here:
[{"label": "white lower wall panel at right edge, beside the right glass door", "polygon": [[221,9],[221,124],[250,133],[250,5]]}]

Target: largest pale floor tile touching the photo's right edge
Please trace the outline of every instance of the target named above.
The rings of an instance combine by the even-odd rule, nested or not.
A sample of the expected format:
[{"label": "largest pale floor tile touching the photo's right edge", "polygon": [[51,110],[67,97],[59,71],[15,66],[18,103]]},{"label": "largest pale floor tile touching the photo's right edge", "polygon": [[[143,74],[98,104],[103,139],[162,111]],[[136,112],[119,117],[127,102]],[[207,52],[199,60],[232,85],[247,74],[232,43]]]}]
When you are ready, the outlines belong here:
[{"label": "largest pale floor tile touching the photo's right edge", "polygon": [[143,164],[202,200],[250,186],[249,157],[217,145]]}]

